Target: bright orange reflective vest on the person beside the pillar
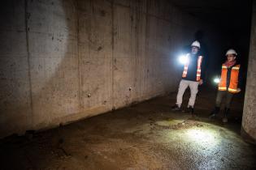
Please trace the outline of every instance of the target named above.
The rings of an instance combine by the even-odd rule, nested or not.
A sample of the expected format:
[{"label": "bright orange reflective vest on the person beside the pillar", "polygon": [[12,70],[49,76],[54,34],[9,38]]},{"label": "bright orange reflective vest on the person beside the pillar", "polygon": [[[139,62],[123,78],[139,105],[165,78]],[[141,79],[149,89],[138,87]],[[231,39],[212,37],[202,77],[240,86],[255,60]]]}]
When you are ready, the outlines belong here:
[{"label": "bright orange reflective vest on the person beside the pillar", "polygon": [[219,91],[229,91],[232,93],[237,92],[237,85],[238,85],[238,76],[239,76],[239,69],[240,65],[236,65],[232,67],[229,86],[227,89],[227,74],[228,74],[228,66],[222,65],[221,70],[221,78],[219,82]]}]

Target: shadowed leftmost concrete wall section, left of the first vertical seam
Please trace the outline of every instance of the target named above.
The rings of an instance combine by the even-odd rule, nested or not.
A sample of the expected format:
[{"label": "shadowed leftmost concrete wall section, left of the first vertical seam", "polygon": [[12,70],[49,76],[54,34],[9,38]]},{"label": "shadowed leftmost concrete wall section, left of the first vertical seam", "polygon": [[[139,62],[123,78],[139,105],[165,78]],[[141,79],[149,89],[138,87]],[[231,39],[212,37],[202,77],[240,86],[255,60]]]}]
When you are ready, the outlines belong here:
[{"label": "shadowed leftmost concrete wall section, left of the first vertical seam", "polygon": [[[0,137],[30,128],[30,82],[25,2],[5,1],[0,9]],[[20,132],[22,132],[20,130]]]}]

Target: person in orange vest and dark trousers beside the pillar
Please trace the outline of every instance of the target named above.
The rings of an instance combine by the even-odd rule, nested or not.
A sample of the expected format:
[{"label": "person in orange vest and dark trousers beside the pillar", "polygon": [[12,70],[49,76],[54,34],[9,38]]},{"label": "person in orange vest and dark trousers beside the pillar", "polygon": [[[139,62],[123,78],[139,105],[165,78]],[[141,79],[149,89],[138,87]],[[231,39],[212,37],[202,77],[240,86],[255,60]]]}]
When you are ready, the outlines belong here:
[{"label": "person in orange vest and dark trousers beside the pillar", "polygon": [[223,112],[223,123],[228,122],[228,113],[232,96],[241,91],[241,66],[236,62],[237,53],[234,49],[228,49],[226,53],[227,61],[223,63],[219,88],[215,102],[215,108],[210,113],[210,118],[214,118],[220,111],[220,105],[225,96],[225,108]]}]

